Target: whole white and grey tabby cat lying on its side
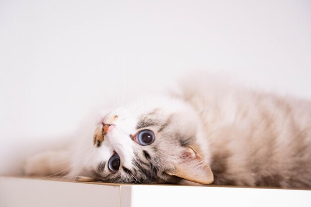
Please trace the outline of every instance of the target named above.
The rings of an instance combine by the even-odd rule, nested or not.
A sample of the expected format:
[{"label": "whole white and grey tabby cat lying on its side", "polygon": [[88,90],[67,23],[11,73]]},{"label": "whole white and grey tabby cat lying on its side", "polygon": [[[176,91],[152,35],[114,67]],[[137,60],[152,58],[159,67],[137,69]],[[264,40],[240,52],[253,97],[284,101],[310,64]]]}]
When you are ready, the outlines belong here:
[{"label": "whole white and grey tabby cat lying on its side", "polygon": [[112,183],[311,188],[311,102],[209,81],[87,120],[27,175]]}]

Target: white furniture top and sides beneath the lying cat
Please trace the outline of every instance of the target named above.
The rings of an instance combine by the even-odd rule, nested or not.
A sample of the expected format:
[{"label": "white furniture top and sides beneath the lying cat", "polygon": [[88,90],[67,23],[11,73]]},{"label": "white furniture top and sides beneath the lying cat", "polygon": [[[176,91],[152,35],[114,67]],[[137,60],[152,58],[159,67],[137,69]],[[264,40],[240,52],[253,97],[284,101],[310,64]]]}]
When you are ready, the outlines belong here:
[{"label": "white furniture top and sides beneath the lying cat", "polygon": [[310,190],[72,183],[0,176],[0,207],[311,207]]}]

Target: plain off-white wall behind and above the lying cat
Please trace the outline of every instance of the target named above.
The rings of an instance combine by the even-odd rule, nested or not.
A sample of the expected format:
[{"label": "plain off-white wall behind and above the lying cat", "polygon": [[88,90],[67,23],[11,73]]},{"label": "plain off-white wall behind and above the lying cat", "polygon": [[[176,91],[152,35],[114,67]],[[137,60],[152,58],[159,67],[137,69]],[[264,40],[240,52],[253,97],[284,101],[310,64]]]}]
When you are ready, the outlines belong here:
[{"label": "plain off-white wall behind and above the lying cat", "polygon": [[100,101],[187,72],[311,99],[310,11],[310,0],[0,0],[0,174],[21,173]]}]

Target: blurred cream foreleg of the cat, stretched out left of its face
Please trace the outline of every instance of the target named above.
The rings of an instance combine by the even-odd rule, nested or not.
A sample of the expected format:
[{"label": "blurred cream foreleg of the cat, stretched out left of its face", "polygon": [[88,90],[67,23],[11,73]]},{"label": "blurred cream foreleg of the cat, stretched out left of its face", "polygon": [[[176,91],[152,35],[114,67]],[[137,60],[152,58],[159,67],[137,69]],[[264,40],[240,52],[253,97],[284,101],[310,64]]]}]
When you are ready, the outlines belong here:
[{"label": "blurred cream foreleg of the cat, stretched out left of its face", "polygon": [[35,154],[26,159],[26,175],[66,175],[70,170],[71,153],[50,150]]}]

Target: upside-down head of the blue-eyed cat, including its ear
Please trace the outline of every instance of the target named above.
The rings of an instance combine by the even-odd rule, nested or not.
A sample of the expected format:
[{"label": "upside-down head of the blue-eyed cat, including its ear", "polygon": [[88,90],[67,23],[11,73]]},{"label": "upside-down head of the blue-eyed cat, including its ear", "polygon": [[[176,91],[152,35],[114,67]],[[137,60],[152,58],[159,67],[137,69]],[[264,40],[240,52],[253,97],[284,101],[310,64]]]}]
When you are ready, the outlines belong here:
[{"label": "upside-down head of the blue-eyed cat, including its ear", "polygon": [[95,130],[92,176],[114,183],[208,184],[210,168],[190,145],[200,121],[182,101],[160,98],[112,111]]}]

